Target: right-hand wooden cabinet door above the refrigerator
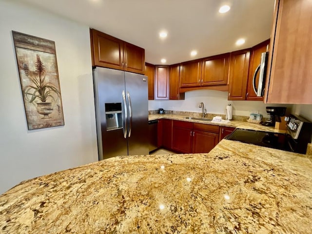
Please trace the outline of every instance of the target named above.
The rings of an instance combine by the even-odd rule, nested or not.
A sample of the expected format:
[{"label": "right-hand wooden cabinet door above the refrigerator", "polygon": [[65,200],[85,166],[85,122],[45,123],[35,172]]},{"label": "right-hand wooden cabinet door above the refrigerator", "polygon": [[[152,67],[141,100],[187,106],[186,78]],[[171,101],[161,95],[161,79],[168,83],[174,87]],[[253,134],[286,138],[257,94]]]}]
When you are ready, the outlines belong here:
[{"label": "right-hand wooden cabinet door above the refrigerator", "polygon": [[145,51],[143,48],[124,42],[124,57],[125,71],[144,75]]}]

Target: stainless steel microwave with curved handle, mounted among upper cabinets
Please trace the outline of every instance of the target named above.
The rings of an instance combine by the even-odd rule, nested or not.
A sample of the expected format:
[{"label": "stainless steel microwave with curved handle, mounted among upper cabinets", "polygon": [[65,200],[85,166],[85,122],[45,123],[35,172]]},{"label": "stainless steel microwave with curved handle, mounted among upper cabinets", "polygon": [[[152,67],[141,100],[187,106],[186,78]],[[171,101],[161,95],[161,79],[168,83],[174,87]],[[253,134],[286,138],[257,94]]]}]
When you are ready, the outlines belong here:
[{"label": "stainless steel microwave with curved handle, mounted among upper cabinets", "polygon": [[[262,53],[260,64],[254,71],[253,86],[254,86],[254,93],[257,95],[257,97],[262,97],[264,94],[268,58],[269,58],[269,52]],[[258,72],[259,72],[259,80],[258,80],[258,87],[256,87],[256,77],[257,77]]]}]

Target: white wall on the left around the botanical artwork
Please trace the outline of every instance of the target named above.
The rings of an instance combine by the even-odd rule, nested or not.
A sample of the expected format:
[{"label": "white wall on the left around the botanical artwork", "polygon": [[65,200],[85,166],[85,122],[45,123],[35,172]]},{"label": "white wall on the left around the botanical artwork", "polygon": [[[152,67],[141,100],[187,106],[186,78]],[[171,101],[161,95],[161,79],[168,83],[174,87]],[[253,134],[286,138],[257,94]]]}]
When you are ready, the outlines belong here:
[{"label": "white wall on the left around the botanical artwork", "polygon": [[[65,125],[27,129],[12,30],[55,41]],[[98,160],[88,26],[0,1],[0,194]]]}]

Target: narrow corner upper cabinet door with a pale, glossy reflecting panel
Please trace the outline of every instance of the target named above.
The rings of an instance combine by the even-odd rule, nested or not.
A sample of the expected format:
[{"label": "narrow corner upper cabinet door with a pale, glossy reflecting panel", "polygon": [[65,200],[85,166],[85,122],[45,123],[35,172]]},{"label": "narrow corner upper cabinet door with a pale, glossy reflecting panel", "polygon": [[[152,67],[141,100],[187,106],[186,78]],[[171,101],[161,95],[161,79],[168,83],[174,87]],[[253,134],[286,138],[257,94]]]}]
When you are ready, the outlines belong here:
[{"label": "narrow corner upper cabinet door with a pale, glossy reflecting panel", "polygon": [[155,66],[155,99],[169,99],[169,66]]}]

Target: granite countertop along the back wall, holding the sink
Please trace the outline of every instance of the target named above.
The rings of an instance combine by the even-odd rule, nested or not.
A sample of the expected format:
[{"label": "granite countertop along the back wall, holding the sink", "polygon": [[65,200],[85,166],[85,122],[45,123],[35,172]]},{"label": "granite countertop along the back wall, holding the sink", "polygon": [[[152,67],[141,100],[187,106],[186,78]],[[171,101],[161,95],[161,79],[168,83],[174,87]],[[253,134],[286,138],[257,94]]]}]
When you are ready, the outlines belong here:
[{"label": "granite countertop along the back wall, holding the sink", "polygon": [[234,128],[241,128],[241,129],[250,129],[256,131],[264,131],[264,132],[273,132],[273,133],[286,133],[285,130],[278,130],[274,127],[263,126],[257,123],[249,123],[246,121],[238,121],[238,120],[231,120],[229,123],[221,123],[221,122],[211,122],[211,121],[202,121],[202,120],[195,120],[195,119],[186,119],[183,115],[149,115],[149,120],[160,119],[160,118],[168,118],[174,120],[181,120],[187,122],[194,122],[194,123],[204,123],[204,124],[212,124],[218,126],[226,126],[226,127],[234,127]]}]

